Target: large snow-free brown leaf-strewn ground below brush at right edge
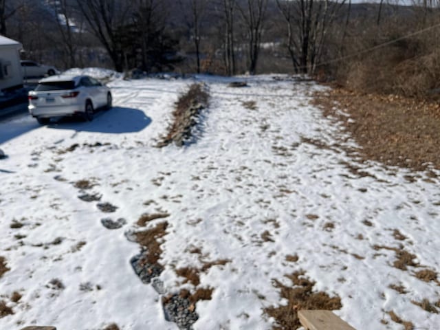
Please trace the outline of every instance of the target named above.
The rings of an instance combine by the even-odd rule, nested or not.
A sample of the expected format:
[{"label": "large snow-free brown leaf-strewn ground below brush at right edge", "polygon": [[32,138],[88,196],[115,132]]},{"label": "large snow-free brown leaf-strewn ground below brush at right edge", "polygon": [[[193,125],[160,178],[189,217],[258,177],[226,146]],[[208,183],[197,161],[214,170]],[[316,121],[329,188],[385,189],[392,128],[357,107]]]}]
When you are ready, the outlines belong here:
[{"label": "large snow-free brown leaf-strewn ground below brush at right edge", "polygon": [[[440,106],[401,96],[360,94],[346,89],[318,92],[315,102],[325,115],[338,118],[362,148],[362,160],[427,170],[440,168]],[[335,102],[338,107],[335,107]],[[338,113],[345,109],[350,119]]]}]

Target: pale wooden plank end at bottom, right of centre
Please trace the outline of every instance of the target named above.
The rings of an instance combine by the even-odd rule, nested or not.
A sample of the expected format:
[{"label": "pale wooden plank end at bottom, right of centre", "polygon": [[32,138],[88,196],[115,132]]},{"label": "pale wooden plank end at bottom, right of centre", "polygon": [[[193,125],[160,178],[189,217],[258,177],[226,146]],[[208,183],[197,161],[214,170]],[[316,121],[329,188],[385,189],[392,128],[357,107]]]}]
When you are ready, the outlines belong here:
[{"label": "pale wooden plank end at bottom, right of centre", "polygon": [[298,318],[306,330],[355,330],[331,311],[303,309],[298,311]]}]

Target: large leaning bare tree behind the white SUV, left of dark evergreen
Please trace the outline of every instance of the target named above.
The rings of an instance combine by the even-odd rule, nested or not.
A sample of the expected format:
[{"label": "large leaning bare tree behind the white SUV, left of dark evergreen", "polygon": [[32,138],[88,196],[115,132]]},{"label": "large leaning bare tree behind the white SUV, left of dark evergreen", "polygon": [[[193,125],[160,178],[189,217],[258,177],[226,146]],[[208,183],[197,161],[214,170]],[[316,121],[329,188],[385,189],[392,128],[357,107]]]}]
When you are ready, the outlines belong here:
[{"label": "large leaning bare tree behind the white SUV, left of dark evergreen", "polygon": [[124,49],[119,30],[131,14],[131,1],[118,0],[76,0],[78,8],[87,21],[91,32],[107,50],[115,70],[124,69]]}]

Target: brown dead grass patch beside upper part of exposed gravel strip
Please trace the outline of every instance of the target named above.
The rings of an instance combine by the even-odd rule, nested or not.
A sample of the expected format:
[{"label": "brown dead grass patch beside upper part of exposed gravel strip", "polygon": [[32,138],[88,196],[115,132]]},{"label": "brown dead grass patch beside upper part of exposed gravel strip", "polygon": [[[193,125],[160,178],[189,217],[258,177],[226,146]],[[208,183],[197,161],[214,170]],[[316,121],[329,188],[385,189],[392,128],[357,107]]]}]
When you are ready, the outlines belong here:
[{"label": "brown dead grass patch beside upper part of exposed gravel strip", "polygon": [[168,228],[168,222],[157,223],[155,227],[144,230],[142,232],[137,232],[135,234],[137,243],[144,246],[147,250],[146,262],[149,264],[157,263],[162,254],[162,248],[160,245],[162,242],[159,241],[162,237],[166,235],[166,228]]}]

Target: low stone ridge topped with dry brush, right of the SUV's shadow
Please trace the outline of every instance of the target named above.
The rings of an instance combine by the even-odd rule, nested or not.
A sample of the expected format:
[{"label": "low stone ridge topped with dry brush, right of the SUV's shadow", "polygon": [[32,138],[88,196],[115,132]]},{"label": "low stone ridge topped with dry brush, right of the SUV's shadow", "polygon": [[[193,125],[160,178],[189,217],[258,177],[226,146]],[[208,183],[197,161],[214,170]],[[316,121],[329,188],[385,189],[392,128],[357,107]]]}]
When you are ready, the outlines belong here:
[{"label": "low stone ridge topped with dry brush, right of the SUV's shadow", "polygon": [[162,148],[168,144],[175,143],[177,146],[184,146],[185,142],[191,140],[193,129],[199,122],[201,111],[208,107],[208,87],[204,84],[192,84],[188,92],[180,96],[173,111],[174,121],[168,129],[168,134],[157,147]]}]

